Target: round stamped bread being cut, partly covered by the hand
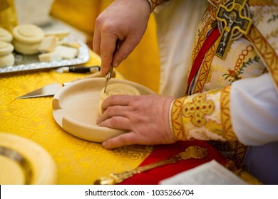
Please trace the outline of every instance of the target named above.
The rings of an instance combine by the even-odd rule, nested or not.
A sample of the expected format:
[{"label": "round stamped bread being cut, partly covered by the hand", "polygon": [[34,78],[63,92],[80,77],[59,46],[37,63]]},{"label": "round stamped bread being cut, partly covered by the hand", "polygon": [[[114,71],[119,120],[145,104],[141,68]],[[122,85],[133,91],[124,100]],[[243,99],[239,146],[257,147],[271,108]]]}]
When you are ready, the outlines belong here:
[{"label": "round stamped bread being cut, partly covered by the hand", "polygon": [[98,114],[101,116],[102,111],[101,111],[101,105],[103,104],[103,101],[112,95],[141,95],[139,90],[137,90],[135,87],[123,83],[115,83],[108,85],[106,87],[106,91],[104,92],[101,90],[101,99],[98,102]]}]

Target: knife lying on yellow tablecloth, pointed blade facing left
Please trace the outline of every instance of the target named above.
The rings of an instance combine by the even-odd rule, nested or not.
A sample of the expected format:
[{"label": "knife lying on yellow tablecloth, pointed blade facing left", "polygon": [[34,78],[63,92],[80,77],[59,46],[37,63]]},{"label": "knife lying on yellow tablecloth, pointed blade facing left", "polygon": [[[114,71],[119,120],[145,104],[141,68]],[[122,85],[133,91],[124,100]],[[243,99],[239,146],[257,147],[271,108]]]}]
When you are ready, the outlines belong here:
[{"label": "knife lying on yellow tablecloth, pointed blade facing left", "polygon": [[[88,75],[88,76],[83,77],[81,79],[73,80],[71,82],[76,82],[78,80],[83,80],[83,79],[93,78],[93,77],[103,77],[103,75],[101,75],[100,72],[95,72],[91,75]],[[112,77],[115,77],[115,71],[113,71]],[[52,83],[50,85],[46,85],[44,87],[38,88],[37,90],[34,90],[32,92],[26,93],[25,95],[21,95],[19,97],[16,97],[16,99],[54,96],[56,94],[56,92],[58,92],[58,90],[60,90],[63,86],[66,86],[66,85],[70,84],[71,82],[64,82],[63,84]]]}]

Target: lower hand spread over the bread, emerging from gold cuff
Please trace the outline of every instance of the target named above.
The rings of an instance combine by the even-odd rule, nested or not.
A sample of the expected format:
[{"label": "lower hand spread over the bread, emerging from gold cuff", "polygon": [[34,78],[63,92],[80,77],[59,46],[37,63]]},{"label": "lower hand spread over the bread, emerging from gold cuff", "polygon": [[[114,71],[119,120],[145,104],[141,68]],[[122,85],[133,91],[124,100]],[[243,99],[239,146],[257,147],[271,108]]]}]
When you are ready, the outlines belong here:
[{"label": "lower hand spread over the bread, emerging from gold cuff", "polygon": [[125,134],[103,142],[105,149],[130,144],[170,144],[176,140],[170,131],[170,103],[173,97],[158,95],[113,95],[103,101],[101,127],[122,129]]}]

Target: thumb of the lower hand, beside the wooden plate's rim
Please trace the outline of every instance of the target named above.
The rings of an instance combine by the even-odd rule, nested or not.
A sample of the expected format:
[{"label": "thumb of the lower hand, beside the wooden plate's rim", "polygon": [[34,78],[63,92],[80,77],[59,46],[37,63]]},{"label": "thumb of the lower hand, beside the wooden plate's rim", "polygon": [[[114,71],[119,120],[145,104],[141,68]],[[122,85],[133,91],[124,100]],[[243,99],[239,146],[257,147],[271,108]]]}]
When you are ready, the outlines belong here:
[{"label": "thumb of the lower hand, beside the wooden plate's rim", "polygon": [[138,144],[134,132],[128,132],[119,136],[113,137],[103,142],[105,149],[114,149],[120,146]]}]

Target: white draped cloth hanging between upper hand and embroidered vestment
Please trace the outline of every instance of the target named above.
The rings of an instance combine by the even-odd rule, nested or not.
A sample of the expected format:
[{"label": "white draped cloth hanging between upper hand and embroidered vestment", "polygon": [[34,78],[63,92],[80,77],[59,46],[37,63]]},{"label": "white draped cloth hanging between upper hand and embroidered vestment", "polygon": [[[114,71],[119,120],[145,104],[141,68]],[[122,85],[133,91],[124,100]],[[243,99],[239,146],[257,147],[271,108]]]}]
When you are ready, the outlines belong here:
[{"label": "white draped cloth hanging between upper hand and embroidered vestment", "polygon": [[166,2],[155,9],[160,54],[159,94],[182,97],[185,95],[187,76],[192,65],[195,33],[208,1]]}]

